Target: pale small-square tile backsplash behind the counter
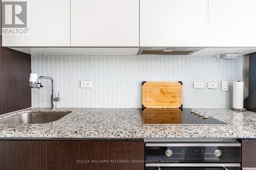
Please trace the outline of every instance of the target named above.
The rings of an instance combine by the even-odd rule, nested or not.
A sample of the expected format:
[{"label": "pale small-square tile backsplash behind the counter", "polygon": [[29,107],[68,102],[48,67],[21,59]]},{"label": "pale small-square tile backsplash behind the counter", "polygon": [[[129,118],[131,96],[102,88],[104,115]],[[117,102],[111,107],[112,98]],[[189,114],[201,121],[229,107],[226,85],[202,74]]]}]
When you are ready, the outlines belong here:
[{"label": "pale small-square tile backsplash behind the counter", "polygon": [[[216,56],[139,55],[33,55],[32,72],[54,78],[57,107],[136,108],[141,107],[142,81],[182,81],[183,106],[227,108],[232,105],[232,82],[242,80],[242,58]],[[80,88],[80,81],[92,81],[92,88]],[[229,91],[221,91],[221,80]],[[204,82],[203,89],[193,82]],[[218,82],[218,89],[207,89]],[[32,107],[50,107],[51,83],[32,89]]]}]

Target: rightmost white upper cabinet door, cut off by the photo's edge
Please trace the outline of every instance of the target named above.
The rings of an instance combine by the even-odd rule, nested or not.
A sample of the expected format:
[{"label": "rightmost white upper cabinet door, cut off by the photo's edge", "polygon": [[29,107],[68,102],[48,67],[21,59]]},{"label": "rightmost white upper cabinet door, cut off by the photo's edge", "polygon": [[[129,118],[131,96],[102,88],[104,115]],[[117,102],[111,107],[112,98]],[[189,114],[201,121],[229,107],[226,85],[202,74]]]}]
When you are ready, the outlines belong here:
[{"label": "rightmost white upper cabinet door, cut off by the photo's edge", "polygon": [[256,46],[255,0],[209,0],[209,46]]}]

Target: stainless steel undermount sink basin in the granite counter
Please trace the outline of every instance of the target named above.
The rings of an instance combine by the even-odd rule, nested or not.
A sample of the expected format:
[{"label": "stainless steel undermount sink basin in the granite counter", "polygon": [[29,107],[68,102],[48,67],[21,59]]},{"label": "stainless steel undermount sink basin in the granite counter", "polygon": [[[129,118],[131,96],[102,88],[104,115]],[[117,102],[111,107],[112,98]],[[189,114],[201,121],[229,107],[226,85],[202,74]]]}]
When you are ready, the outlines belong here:
[{"label": "stainless steel undermount sink basin in the granite counter", "polygon": [[3,118],[0,120],[0,124],[45,124],[54,122],[63,116],[68,115],[68,113],[62,112],[32,112],[32,113],[22,113],[17,114],[8,118]]}]

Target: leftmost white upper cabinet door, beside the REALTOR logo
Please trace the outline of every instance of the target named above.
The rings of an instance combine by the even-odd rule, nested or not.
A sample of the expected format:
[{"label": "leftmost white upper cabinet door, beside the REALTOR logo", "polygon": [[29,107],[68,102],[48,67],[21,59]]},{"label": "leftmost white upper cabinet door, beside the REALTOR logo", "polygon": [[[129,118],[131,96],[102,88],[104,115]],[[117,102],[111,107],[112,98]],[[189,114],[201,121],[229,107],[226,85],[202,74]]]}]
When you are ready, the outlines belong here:
[{"label": "leftmost white upper cabinet door, beside the REALTOR logo", "polygon": [[28,34],[3,35],[3,46],[70,46],[70,0],[27,0],[27,21]]}]

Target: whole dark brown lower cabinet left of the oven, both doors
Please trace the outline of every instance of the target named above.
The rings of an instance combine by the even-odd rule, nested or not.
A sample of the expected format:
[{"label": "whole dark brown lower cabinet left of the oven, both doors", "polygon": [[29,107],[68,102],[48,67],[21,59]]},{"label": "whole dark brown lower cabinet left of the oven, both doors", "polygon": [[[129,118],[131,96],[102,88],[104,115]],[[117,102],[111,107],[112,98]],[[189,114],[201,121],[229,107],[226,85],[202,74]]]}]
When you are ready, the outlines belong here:
[{"label": "whole dark brown lower cabinet left of the oven, both doors", "polygon": [[144,169],[143,141],[0,141],[0,170]]}]

